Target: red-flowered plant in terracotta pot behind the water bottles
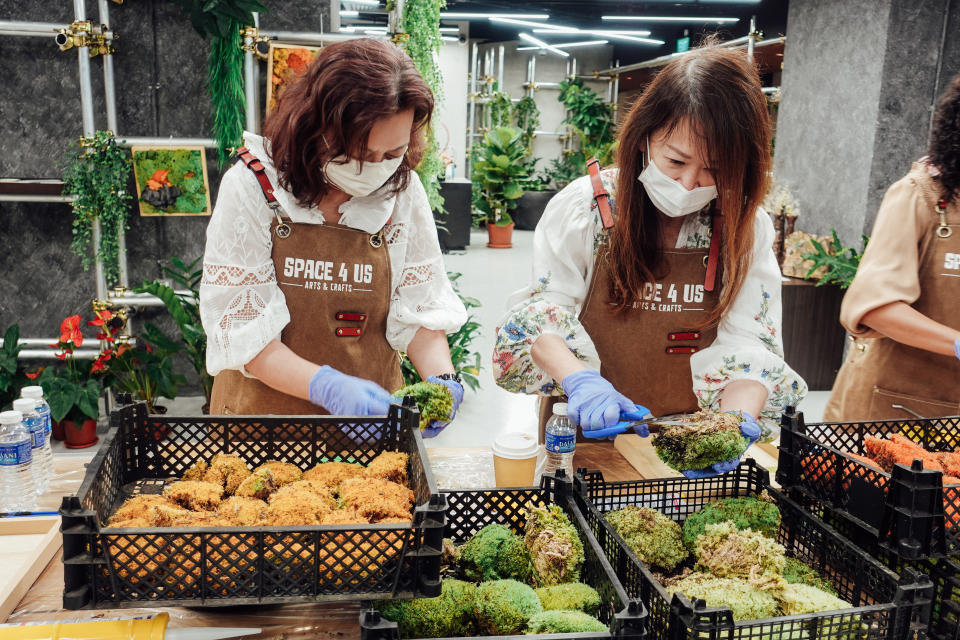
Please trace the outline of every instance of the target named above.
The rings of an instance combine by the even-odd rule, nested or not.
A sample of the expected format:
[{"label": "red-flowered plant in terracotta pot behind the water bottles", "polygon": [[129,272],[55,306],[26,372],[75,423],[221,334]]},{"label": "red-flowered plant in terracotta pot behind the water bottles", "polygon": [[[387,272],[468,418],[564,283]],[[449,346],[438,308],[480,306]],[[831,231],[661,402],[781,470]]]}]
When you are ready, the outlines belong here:
[{"label": "red-flowered plant in terracotta pot behind the water bottles", "polygon": [[97,443],[97,418],[100,416],[101,375],[104,367],[98,358],[88,364],[74,357],[83,345],[82,318],[68,316],[60,323],[60,340],[50,345],[57,349],[63,367],[45,367],[37,378],[50,405],[50,418],[63,430],[64,445],[71,449]]}]

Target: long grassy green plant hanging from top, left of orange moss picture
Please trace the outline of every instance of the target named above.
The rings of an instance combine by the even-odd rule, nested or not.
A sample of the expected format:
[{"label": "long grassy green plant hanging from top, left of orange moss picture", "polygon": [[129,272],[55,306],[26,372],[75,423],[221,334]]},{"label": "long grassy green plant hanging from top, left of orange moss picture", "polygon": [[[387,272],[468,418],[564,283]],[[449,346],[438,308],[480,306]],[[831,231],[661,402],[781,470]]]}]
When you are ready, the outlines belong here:
[{"label": "long grassy green plant hanging from top, left of orange moss picture", "polygon": [[213,106],[213,135],[219,167],[243,140],[246,98],[241,29],[254,25],[253,14],[267,8],[257,0],[173,0],[201,36],[210,37],[207,91]]}]

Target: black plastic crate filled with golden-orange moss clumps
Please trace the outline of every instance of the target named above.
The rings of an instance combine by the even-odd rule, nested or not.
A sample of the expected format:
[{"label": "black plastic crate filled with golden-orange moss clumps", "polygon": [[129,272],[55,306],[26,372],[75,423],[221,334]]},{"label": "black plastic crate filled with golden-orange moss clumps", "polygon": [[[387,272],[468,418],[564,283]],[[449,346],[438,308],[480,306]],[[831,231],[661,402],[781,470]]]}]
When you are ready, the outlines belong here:
[{"label": "black plastic crate filled with golden-orange moss clumps", "polygon": [[[434,596],[446,503],[420,436],[416,408],[388,416],[148,415],[142,403],[111,415],[111,431],[76,496],[66,497],[66,609],[223,606]],[[136,493],[159,493],[218,453],[251,466],[280,460],[308,469],[327,460],[369,463],[409,455],[411,524],[284,527],[107,527]]]}]

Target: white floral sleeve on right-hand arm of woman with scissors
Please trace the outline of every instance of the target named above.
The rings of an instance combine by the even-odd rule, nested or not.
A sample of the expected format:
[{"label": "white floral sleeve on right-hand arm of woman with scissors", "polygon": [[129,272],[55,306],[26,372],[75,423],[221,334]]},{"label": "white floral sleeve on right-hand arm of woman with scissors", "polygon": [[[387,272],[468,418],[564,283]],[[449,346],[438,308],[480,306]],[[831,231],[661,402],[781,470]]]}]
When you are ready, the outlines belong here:
[{"label": "white floral sleeve on right-hand arm of woman with scissors", "polygon": [[782,276],[773,235],[770,217],[758,209],[753,260],[740,294],[720,321],[713,344],[690,357],[701,408],[719,408],[723,388],[734,380],[754,380],[767,388],[767,403],[757,416],[765,440],[778,432],[783,407],[796,406],[807,393],[807,384],[783,357]]}]

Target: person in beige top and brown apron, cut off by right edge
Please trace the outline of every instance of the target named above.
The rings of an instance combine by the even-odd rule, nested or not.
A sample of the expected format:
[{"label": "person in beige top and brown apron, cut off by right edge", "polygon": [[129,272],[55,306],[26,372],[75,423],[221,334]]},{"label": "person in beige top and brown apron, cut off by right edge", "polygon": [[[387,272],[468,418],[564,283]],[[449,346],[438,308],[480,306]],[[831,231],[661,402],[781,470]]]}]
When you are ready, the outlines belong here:
[{"label": "person in beige top and brown apron, cut off by right edge", "polygon": [[854,342],[827,420],[960,413],[960,75],[927,155],[883,198],[840,321]]}]

